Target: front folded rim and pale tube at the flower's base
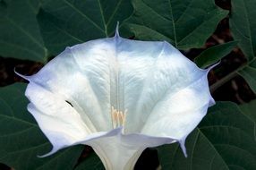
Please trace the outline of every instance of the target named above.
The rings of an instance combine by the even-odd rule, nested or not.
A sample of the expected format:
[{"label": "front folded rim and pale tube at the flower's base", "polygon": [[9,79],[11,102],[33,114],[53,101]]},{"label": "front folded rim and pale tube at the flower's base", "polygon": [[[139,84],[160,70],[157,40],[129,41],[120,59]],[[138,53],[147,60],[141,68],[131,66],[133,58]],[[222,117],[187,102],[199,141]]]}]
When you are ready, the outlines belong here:
[{"label": "front folded rim and pale tube at the flower's base", "polygon": [[107,170],[130,170],[133,169],[144,149],[175,141],[136,133],[124,135],[120,129],[115,136],[97,138],[85,144],[95,150]]}]

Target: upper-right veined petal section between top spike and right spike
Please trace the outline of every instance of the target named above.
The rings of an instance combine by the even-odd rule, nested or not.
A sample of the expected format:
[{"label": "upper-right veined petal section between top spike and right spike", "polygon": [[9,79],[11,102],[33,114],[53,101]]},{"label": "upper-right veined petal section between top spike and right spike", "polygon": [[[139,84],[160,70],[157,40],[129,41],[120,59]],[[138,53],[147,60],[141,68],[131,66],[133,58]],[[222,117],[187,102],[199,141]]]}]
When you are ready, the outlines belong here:
[{"label": "upper-right veined petal section between top spike and right spike", "polygon": [[[118,49],[122,51],[118,61],[122,65],[120,80],[124,84],[124,109],[128,110],[125,132],[128,133],[141,132],[155,107],[205,77],[208,72],[199,69],[166,42],[144,43],[122,39],[119,45]],[[203,92],[209,94],[208,81],[203,81],[206,82]]]}]

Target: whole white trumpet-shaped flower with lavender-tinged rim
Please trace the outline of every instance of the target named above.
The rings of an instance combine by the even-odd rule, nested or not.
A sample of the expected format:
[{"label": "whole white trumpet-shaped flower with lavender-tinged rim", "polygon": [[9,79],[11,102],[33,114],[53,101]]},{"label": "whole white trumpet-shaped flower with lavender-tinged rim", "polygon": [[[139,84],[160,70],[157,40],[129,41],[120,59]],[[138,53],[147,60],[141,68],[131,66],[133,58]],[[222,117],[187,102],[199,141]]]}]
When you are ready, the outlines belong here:
[{"label": "whole white trumpet-shaped flower with lavender-tinged rim", "polygon": [[[210,68],[209,68],[210,69]],[[30,81],[28,110],[55,153],[91,146],[108,170],[149,147],[184,141],[214,104],[207,74],[166,41],[121,38],[67,47]],[[44,157],[45,157],[44,156]]]}]

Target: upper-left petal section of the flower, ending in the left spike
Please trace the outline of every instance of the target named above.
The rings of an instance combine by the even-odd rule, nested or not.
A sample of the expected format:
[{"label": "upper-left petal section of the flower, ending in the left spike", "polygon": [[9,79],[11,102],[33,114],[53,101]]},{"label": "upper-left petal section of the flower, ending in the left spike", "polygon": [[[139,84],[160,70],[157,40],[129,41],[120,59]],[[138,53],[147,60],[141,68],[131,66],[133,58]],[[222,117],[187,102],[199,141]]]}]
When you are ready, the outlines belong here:
[{"label": "upper-left petal section of the flower, ending in the left spike", "polygon": [[[86,51],[90,43],[89,46],[85,43],[79,47],[84,47]],[[95,56],[91,61],[91,56],[82,54],[81,50],[83,59],[87,61],[81,65],[80,61],[73,56],[72,51],[76,52],[72,48],[66,48],[62,54],[55,57],[29,79],[53,94],[62,96],[63,101],[71,103],[92,132],[109,131],[112,129],[108,113],[110,110],[109,85],[102,78],[106,74],[102,69],[104,60],[100,62]]]}]

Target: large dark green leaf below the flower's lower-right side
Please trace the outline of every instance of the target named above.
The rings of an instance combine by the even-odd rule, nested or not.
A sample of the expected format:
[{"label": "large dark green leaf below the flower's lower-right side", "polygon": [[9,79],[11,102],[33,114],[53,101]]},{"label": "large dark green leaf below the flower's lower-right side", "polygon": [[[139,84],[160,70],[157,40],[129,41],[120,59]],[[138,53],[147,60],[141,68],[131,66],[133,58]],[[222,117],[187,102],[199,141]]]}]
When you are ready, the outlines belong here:
[{"label": "large dark green leaf below the flower's lower-right side", "polygon": [[219,102],[186,141],[188,157],[177,144],[158,147],[162,169],[256,169],[254,123],[231,102]]}]

